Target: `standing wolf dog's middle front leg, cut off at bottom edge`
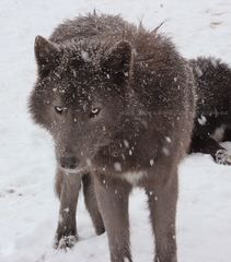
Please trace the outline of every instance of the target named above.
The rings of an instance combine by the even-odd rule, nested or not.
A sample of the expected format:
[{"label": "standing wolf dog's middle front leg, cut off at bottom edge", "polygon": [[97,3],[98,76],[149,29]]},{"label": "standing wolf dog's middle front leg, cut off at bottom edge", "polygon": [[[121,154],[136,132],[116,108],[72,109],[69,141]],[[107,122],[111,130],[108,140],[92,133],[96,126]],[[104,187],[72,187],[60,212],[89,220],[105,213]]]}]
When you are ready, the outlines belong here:
[{"label": "standing wolf dog's middle front leg, cut off at bottom edge", "polygon": [[129,243],[128,196],[130,184],[118,179],[97,176],[96,198],[107,233],[111,261],[131,262]]}]

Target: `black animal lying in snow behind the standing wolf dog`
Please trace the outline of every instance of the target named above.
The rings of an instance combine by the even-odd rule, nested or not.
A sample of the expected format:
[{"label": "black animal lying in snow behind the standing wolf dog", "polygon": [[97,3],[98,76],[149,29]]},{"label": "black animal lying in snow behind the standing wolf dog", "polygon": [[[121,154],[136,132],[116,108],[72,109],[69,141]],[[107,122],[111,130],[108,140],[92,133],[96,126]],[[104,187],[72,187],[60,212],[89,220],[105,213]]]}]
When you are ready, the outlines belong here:
[{"label": "black animal lying in snow behind the standing wolf dog", "polygon": [[219,142],[231,141],[231,69],[215,58],[189,61],[197,86],[197,109],[190,152],[210,154],[231,165],[231,155]]}]

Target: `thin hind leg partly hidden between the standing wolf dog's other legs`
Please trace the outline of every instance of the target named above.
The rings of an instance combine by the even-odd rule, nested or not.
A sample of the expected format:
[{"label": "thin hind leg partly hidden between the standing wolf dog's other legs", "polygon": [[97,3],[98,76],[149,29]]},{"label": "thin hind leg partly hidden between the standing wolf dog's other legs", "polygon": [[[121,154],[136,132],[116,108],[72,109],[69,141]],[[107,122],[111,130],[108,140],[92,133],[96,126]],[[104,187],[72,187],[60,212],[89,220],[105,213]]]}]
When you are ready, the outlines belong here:
[{"label": "thin hind leg partly hidden between the standing wolf dog's other legs", "polygon": [[96,235],[101,235],[105,231],[103,218],[99,211],[99,205],[95,195],[94,180],[90,174],[82,177],[83,194],[85,206],[92,218]]}]

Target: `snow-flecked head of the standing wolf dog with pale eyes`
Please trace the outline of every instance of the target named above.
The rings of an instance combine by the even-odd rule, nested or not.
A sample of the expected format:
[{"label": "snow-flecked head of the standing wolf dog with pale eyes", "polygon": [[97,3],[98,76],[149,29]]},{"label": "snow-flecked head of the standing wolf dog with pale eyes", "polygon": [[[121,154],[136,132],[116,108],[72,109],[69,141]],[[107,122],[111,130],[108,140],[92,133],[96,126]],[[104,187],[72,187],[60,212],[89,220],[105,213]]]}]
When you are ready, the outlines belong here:
[{"label": "snow-flecked head of the standing wolf dog with pale eyes", "polygon": [[35,122],[51,133],[60,167],[76,171],[91,166],[123,126],[130,44],[65,46],[37,36],[35,57],[38,79],[30,99]]}]

